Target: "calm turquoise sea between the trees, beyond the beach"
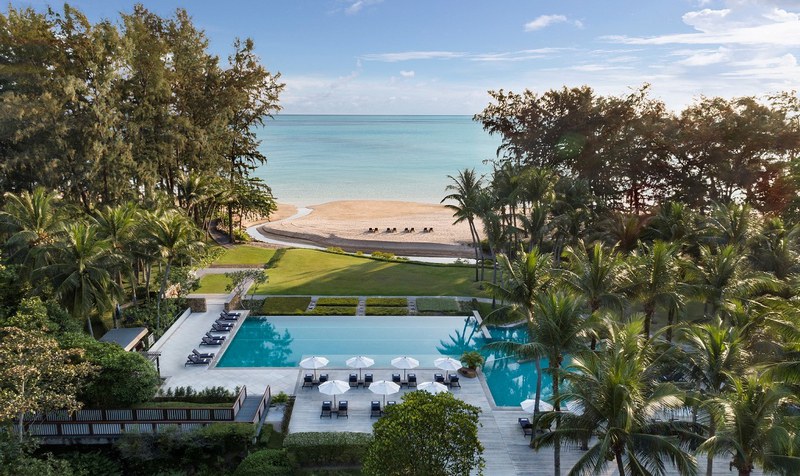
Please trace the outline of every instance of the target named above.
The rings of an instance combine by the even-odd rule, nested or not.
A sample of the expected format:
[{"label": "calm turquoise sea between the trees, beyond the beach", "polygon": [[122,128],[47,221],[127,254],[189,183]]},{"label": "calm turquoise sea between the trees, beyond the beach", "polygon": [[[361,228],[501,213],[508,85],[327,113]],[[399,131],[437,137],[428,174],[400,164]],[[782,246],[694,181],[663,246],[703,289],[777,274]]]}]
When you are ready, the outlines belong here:
[{"label": "calm turquoise sea between the trees, beyond the beach", "polygon": [[280,203],[439,203],[448,175],[488,173],[499,137],[470,116],[276,115],[258,131],[264,179]]}]

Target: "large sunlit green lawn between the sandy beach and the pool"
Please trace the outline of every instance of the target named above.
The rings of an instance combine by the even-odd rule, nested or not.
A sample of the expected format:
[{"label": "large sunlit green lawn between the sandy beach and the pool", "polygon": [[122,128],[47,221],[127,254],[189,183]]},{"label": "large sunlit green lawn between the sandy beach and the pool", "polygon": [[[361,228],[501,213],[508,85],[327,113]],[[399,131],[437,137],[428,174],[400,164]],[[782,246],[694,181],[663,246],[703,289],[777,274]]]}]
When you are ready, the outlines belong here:
[{"label": "large sunlit green lawn between the sandy beach and the pool", "polygon": [[[269,250],[265,250],[269,251]],[[267,271],[260,294],[317,296],[476,296],[483,293],[466,267],[425,266],[290,249]],[[224,293],[224,276],[206,275],[198,293]]]}]

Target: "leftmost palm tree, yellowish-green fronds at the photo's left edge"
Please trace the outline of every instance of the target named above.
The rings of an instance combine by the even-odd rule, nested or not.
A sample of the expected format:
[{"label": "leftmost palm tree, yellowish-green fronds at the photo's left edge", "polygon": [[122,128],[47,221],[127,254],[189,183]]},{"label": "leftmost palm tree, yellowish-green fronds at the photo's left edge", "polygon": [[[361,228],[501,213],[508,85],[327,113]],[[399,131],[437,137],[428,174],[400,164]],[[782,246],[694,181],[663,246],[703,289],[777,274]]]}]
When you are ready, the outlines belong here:
[{"label": "leftmost palm tree, yellowish-green fronds at the photo's left edge", "polygon": [[63,231],[58,213],[58,195],[44,187],[33,193],[6,193],[5,206],[0,211],[0,232],[6,233],[5,246],[11,262],[23,265],[27,276],[47,263],[47,254]]}]

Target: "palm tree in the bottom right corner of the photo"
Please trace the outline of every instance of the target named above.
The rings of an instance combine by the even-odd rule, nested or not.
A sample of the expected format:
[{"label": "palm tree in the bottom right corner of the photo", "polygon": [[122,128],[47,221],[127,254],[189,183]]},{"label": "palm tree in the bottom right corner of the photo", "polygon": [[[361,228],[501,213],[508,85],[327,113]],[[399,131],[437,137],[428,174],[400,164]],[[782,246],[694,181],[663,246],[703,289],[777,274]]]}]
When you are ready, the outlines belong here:
[{"label": "palm tree in the bottom right corner of the photo", "polygon": [[782,412],[797,395],[770,378],[751,375],[732,379],[732,390],[715,399],[722,418],[717,433],[698,451],[731,454],[739,476],[749,476],[756,465],[766,472],[800,474],[798,441]]}]

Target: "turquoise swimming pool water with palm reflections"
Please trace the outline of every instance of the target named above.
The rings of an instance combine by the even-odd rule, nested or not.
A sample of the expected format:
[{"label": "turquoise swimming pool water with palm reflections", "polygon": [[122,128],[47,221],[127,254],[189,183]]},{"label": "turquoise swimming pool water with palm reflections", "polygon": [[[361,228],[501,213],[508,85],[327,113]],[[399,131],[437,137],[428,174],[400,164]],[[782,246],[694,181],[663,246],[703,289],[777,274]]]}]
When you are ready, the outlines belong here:
[{"label": "turquoise swimming pool water with palm reflections", "polygon": [[[433,361],[443,355],[459,358],[465,351],[478,350],[486,358],[483,372],[495,404],[517,406],[535,392],[533,362],[519,363],[483,347],[493,340],[524,342],[527,331],[491,329],[490,333],[485,337],[474,319],[464,317],[248,317],[217,366],[296,367],[305,357],[321,355],[331,367],[345,368],[348,358],[366,355],[375,359],[375,367],[391,368],[391,359],[408,355],[418,359],[420,367],[433,368]],[[546,367],[543,362],[542,368]],[[545,375],[543,398],[550,392]]]}]

